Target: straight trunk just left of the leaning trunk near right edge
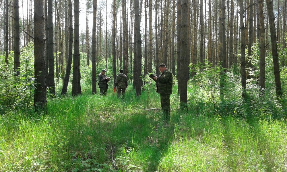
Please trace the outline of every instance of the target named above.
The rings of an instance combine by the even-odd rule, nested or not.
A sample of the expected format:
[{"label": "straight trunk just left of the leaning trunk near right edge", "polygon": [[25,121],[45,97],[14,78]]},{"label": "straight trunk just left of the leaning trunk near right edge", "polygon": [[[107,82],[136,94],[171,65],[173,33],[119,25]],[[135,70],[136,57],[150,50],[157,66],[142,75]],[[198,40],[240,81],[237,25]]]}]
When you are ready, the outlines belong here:
[{"label": "straight trunk just left of the leaning trunk near right edge", "polygon": [[257,18],[259,21],[259,87],[265,92],[265,27],[263,14],[263,0],[257,0]]}]

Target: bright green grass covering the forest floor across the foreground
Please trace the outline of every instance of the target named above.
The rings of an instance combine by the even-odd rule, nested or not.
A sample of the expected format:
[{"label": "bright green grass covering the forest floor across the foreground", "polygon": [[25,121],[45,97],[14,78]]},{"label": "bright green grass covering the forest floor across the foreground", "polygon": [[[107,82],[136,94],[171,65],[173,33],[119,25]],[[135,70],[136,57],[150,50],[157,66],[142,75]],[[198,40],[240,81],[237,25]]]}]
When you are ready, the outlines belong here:
[{"label": "bright green grass covering the forest floor across the foreground", "polygon": [[284,119],[221,117],[204,102],[181,112],[176,94],[171,104],[168,124],[144,110],[160,108],[154,89],[136,98],[131,87],[123,100],[86,90],[49,99],[47,113],[9,112],[0,171],[287,171]]}]

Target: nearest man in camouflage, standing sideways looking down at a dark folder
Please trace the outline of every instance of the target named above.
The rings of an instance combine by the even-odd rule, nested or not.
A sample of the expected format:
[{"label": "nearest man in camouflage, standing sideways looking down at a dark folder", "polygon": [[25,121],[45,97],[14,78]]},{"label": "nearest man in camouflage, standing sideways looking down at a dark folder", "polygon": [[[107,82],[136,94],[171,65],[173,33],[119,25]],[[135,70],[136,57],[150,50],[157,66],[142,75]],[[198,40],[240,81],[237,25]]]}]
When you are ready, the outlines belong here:
[{"label": "nearest man in camouflage, standing sideways looking down at a dark folder", "polygon": [[160,105],[164,112],[165,120],[170,118],[170,94],[172,93],[172,73],[166,68],[165,64],[159,65],[159,70],[161,74],[159,77],[155,76],[154,79],[157,80],[156,92],[160,93]]}]

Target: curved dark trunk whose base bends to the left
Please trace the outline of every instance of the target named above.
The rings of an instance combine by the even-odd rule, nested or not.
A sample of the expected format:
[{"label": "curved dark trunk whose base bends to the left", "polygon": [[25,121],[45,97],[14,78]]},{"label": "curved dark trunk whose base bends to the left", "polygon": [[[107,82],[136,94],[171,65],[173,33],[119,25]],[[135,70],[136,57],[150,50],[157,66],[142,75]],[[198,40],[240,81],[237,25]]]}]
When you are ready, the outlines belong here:
[{"label": "curved dark trunk whose base bends to the left", "polygon": [[[67,88],[70,79],[71,66],[72,66],[72,56],[73,56],[73,9],[72,9],[72,0],[69,0],[69,50],[68,50],[68,59],[67,59],[67,67],[66,67],[66,75],[63,83],[63,88],[61,95],[65,95],[67,93]],[[57,5],[55,1],[55,5]],[[59,17],[58,17],[59,22]],[[61,33],[60,33],[61,34]],[[60,36],[61,37],[61,36]]]}]

